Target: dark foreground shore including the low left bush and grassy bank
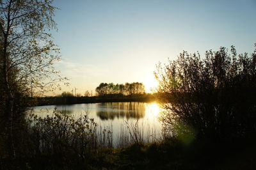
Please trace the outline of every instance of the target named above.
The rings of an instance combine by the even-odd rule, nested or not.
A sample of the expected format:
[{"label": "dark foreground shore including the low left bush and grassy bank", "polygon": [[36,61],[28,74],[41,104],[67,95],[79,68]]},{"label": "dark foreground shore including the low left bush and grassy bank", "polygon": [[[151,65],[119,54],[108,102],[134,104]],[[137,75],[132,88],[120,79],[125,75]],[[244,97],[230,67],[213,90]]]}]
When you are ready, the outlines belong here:
[{"label": "dark foreground shore including the low left bush and grassy bank", "polygon": [[[146,144],[133,139],[114,148],[109,130],[97,131],[88,116],[79,120],[53,114],[48,118],[29,116],[27,123],[15,125],[15,157],[8,155],[5,135],[1,138],[1,169],[253,169],[255,137],[251,140],[195,139],[191,135],[165,137]],[[31,125],[32,123],[32,125]],[[125,135],[125,134],[123,134]],[[124,143],[127,139],[120,140]],[[189,141],[189,142],[188,142]]]}]

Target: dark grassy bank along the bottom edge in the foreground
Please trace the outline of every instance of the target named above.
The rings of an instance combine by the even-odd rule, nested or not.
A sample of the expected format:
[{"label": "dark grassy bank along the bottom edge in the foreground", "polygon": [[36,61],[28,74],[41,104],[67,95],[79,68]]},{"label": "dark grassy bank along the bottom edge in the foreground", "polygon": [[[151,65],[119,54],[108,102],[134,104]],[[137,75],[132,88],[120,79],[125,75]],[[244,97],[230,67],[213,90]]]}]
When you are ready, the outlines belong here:
[{"label": "dark grassy bank along the bottom edge in the foreground", "polygon": [[[241,146],[242,145],[242,146]],[[218,147],[217,147],[218,146]],[[238,146],[238,147],[237,147]],[[3,169],[255,169],[255,144],[220,143],[184,146],[173,138],[160,143],[134,143],[124,148],[92,150],[84,160],[74,155],[38,155],[2,160]]]}]

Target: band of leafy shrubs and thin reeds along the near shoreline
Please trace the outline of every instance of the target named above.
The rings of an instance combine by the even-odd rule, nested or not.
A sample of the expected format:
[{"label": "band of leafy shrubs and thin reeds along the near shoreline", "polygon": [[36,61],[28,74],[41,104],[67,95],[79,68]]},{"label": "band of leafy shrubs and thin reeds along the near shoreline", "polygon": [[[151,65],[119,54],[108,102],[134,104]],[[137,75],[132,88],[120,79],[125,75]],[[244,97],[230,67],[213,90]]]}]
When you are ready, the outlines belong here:
[{"label": "band of leafy shrubs and thin reeds along the near shoreline", "polygon": [[[146,128],[147,127],[147,128]],[[40,118],[34,114],[28,117],[28,134],[33,145],[38,145],[40,153],[62,152],[67,148],[78,151],[80,155],[88,150],[100,148],[122,148],[133,143],[153,143],[162,139],[155,125],[146,125],[140,120],[124,120],[119,133],[113,135],[113,125],[101,125],[88,117],[58,114]]]}]

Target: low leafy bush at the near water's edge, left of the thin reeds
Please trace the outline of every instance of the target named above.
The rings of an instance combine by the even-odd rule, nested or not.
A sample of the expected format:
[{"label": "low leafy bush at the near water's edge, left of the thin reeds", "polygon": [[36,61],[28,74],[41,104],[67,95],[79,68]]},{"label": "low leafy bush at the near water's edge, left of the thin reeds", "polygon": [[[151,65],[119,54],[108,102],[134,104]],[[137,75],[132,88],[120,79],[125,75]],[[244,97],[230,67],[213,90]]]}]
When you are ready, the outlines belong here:
[{"label": "low leafy bush at the near water's edge, left of the thin reeds", "polygon": [[47,118],[30,115],[29,121],[31,127],[28,134],[32,139],[31,146],[38,147],[35,147],[36,154],[60,157],[71,154],[84,158],[90,149],[97,146],[97,124],[86,114],[78,120],[56,113]]}]

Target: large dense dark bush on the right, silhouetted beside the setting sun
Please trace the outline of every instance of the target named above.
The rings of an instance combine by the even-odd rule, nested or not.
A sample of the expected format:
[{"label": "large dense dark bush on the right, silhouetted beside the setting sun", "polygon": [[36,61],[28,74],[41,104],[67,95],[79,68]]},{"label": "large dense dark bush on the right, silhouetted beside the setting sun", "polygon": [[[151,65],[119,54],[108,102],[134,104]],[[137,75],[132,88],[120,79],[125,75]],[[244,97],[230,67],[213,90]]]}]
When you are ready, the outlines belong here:
[{"label": "large dense dark bush on the right, silhouetted beside the setting sun", "polygon": [[221,47],[204,59],[184,51],[155,74],[168,130],[189,127],[182,133],[213,139],[255,134],[256,50],[237,56],[234,46]]}]

